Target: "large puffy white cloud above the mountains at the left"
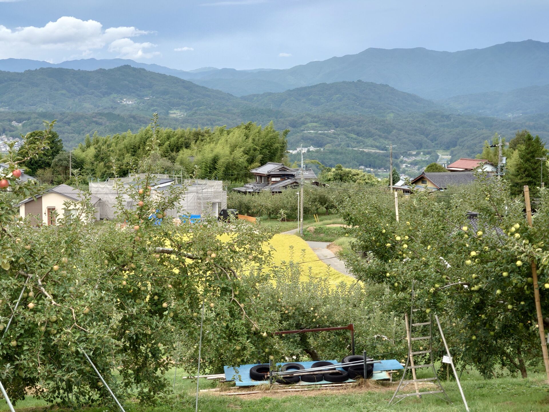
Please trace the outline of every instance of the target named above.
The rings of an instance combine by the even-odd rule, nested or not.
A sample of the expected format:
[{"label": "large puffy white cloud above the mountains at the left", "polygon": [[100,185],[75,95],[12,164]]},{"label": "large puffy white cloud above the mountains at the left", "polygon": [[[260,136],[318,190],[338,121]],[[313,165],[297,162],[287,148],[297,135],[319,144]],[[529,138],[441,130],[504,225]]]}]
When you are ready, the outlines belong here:
[{"label": "large puffy white cloud above the mountains at the left", "polygon": [[[2,0],[0,0],[2,1]],[[130,41],[130,37],[151,34],[150,31],[139,30],[136,27],[109,27],[103,30],[103,25],[96,20],[81,20],[71,16],[63,16],[57,21],[50,21],[43,27],[17,27],[8,29],[0,25],[0,58],[4,57],[43,57],[55,51],[81,52],[90,54],[93,50],[103,49],[108,44],[112,45],[119,40]],[[116,53],[122,53],[120,43],[113,46]],[[154,47],[152,43],[133,43],[130,47],[139,51],[144,48]],[[109,46],[109,50],[111,46]],[[48,52],[48,53],[45,53]],[[130,55],[131,53],[128,53]],[[137,55],[138,53],[133,53]],[[141,53],[141,57],[147,58],[151,53]],[[151,56],[152,57],[152,56]]]}]

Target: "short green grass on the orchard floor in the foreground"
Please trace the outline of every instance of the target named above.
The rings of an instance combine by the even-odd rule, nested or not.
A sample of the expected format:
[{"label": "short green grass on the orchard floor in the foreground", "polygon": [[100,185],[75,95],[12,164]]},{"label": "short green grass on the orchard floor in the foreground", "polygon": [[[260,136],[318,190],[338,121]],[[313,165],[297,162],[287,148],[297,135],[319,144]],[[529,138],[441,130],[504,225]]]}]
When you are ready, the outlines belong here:
[{"label": "short green grass on the orchard floor in the foreground", "polygon": [[[173,381],[173,370],[166,374]],[[472,412],[523,412],[549,411],[549,386],[544,383],[544,374],[530,374],[527,379],[502,377],[483,380],[476,372],[463,374],[462,386]],[[200,380],[200,389],[213,388],[215,381]],[[442,381],[451,404],[434,395],[422,399],[410,397],[401,403],[390,406],[394,385],[384,383],[373,388],[351,387],[338,391],[316,391],[294,393],[281,396],[281,393],[265,393],[261,396],[242,397],[220,396],[214,393],[201,392],[198,410],[201,412],[239,411],[255,412],[340,412],[340,411],[397,411],[397,412],[462,412],[465,410],[460,392],[455,382]],[[427,390],[427,388],[422,389]],[[139,405],[131,400],[124,400],[127,412],[191,412],[194,411],[196,381],[176,378],[175,392],[159,400],[154,406]],[[34,407],[38,408],[34,408]],[[17,411],[42,411],[44,403],[33,403],[25,400],[17,405]],[[8,410],[5,403],[0,403],[0,410]],[[54,409],[55,410],[55,409]],[[116,408],[86,408],[82,412],[116,411]]]}]

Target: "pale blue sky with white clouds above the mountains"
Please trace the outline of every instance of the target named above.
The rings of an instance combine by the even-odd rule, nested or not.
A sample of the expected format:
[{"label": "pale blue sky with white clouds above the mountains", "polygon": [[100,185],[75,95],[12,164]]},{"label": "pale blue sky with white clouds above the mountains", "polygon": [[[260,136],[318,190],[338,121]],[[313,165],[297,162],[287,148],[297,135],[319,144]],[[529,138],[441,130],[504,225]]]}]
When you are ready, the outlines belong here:
[{"label": "pale blue sky with white clouds above the mountains", "polygon": [[546,0],[0,0],[0,59],[284,69],[369,47],[549,42]]}]

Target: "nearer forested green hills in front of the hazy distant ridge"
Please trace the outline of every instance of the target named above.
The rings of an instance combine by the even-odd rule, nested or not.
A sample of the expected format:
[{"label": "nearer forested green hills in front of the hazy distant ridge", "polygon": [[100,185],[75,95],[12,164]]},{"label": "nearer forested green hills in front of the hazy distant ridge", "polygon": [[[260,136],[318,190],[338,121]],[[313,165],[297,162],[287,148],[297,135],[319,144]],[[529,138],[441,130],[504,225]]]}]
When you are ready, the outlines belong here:
[{"label": "nearer forested green hills in front of the hazy distant ridge", "polygon": [[[131,103],[123,103],[124,99]],[[322,83],[237,98],[130,66],[0,72],[0,109],[0,133],[18,136],[39,129],[44,119],[57,119],[56,130],[66,148],[78,146],[94,132],[137,133],[153,112],[172,129],[273,121],[276,129],[289,130],[289,148],[303,144],[384,149],[398,142],[402,151],[450,149],[458,158],[474,156],[496,131],[510,138],[517,130],[528,129],[542,140],[549,138],[546,114],[513,121],[463,115],[376,83]]]}]

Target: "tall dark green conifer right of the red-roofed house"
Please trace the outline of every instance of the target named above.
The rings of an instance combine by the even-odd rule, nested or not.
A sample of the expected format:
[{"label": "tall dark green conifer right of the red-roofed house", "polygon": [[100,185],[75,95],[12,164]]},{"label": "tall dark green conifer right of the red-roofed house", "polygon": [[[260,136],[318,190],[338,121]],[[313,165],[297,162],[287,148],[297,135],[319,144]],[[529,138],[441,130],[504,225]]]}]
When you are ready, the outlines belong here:
[{"label": "tall dark green conifer right of the red-roofed house", "polygon": [[524,186],[528,185],[531,196],[539,196],[541,169],[543,168],[544,180],[549,176],[547,163],[536,158],[547,157],[547,149],[539,136],[533,137],[526,130],[517,132],[517,136],[509,142],[509,146],[512,142],[518,143],[514,145],[518,150],[518,160],[513,170],[507,175],[511,182],[511,192],[518,196],[523,192]]}]

